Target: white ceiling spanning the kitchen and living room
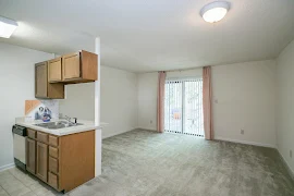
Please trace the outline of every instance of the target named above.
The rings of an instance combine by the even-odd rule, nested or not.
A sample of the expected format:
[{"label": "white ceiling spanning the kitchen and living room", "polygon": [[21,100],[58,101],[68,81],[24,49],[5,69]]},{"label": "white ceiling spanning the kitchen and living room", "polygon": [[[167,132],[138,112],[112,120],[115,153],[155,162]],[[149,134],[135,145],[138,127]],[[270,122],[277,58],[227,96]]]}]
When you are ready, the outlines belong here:
[{"label": "white ceiling spanning the kitchen and living room", "polygon": [[93,50],[101,64],[132,72],[177,70],[277,58],[294,38],[293,0],[229,0],[219,23],[200,9],[212,0],[0,0],[17,21],[0,41],[51,53]]}]

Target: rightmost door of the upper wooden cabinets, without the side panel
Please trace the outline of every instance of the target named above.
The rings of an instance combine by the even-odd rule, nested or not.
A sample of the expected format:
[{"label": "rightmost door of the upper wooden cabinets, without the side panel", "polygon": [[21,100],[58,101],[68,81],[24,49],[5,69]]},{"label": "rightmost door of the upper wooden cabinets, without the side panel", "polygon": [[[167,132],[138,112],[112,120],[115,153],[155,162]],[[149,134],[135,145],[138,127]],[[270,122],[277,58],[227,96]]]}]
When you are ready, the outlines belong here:
[{"label": "rightmost door of the upper wooden cabinets, without the side panel", "polygon": [[62,57],[62,76],[63,81],[81,77],[81,58],[79,52]]}]

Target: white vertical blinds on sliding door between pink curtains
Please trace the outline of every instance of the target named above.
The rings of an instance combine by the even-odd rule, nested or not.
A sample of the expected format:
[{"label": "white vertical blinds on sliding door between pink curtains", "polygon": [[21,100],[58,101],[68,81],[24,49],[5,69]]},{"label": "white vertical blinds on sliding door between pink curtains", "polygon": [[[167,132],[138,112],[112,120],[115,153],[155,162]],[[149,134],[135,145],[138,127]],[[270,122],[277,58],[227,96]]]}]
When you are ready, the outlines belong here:
[{"label": "white vertical blinds on sliding door between pink curtains", "polygon": [[204,136],[201,78],[166,82],[164,130]]}]

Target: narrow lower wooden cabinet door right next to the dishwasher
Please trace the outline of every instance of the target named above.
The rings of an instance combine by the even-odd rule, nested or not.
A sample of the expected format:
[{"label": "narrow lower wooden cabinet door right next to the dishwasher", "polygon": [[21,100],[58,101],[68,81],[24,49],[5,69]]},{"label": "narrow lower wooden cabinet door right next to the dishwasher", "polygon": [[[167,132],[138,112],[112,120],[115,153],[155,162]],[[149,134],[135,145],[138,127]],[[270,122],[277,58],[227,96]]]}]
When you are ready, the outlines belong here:
[{"label": "narrow lower wooden cabinet door right next to the dishwasher", "polygon": [[36,173],[36,140],[26,138],[26,170]]}]

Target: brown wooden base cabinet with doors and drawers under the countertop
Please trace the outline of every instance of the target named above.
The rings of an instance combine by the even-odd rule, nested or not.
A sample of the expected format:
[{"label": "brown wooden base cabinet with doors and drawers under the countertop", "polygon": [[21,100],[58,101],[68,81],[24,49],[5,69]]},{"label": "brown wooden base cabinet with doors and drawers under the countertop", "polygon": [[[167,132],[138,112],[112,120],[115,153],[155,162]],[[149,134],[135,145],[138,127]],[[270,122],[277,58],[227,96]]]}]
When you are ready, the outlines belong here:
[{"label": "brown wooden base cabinet with doors and drawers under the countertop", "polygon": [[59,192],[69,192],[95,177],[95,131],[64,136],[29,132],[28,172]]}]

